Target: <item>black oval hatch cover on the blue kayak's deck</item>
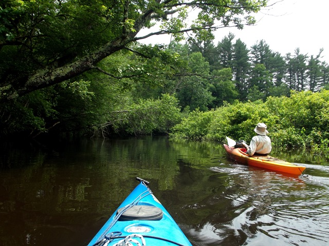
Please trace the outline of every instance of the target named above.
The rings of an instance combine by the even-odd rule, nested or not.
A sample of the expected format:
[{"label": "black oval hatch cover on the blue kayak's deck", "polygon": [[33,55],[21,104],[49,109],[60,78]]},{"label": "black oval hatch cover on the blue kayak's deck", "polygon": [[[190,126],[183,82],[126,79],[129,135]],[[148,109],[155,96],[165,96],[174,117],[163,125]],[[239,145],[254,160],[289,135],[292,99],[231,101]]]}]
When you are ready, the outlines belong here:
[{"label": "black oval hatch cover on the blue kayak's deck", "polygon": [[[123,208],[118,209],[119,214]],[[163,212],[160,208],[149,205],[135,205],[125,211],[119,218],[120,221],[126,220],[160,220]]]}]

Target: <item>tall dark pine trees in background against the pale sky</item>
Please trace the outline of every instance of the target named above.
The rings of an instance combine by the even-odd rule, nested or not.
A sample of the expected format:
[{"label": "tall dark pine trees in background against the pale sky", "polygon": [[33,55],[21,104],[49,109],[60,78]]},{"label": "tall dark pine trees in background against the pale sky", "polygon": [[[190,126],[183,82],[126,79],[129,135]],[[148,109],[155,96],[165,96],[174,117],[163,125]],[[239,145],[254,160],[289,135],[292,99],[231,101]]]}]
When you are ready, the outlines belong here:
[{"label": "tall dark pine trees in background against the pale sky", "polygon": [[211,71],[231,69],[237,98],[242,101],[289,96],[290,90],[316,92],[329,83],[329,66],[321,61],[323,49],[316,56],[308,56],[297,48],[283,57],[272,51],[265,40],[257,41],[249,50],[240,39],[234,43],[234,38],[229,33],[217,46],[207,41],[193,43],[190,49],[203,53]]}]

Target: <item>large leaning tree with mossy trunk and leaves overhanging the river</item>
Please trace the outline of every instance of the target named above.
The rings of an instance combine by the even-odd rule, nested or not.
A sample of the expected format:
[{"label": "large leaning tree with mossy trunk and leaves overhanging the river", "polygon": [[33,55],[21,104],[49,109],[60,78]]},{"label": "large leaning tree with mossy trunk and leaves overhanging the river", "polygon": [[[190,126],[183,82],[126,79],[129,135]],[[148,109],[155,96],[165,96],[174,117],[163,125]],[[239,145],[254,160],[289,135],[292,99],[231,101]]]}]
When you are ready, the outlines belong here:
[{"label": "large leaning tree with mossy trunk and leaves overhanging the river", "polygon": [[[266,4],[265,0],[4,0],[0,103],[98,69],[105,57],[153,35],[171,33],[179,39],[190,31],[206,39],[217,28],[242,28],[254,23],[250,14]],[[188,7],[199,11],[192,22]],[[161,24],[157,31],[138,36],[155,22]]]}]

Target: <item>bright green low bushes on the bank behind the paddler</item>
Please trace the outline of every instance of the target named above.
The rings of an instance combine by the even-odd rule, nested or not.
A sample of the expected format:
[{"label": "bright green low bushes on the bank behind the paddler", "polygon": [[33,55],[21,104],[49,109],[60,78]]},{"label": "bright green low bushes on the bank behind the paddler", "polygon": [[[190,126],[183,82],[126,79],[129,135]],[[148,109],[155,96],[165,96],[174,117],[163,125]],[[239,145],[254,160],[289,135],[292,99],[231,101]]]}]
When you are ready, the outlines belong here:
[{"label": "bright green low bushes on the bank behind the paddler", "polygon": [[172,128],[172,137],[225,142],[226,136],[249,141],[258,122],[264,122],[273,146],[329,151],[329,91],[291,92],[291,97],[269,97],[224,105],[209,112],[192,112]]}]

